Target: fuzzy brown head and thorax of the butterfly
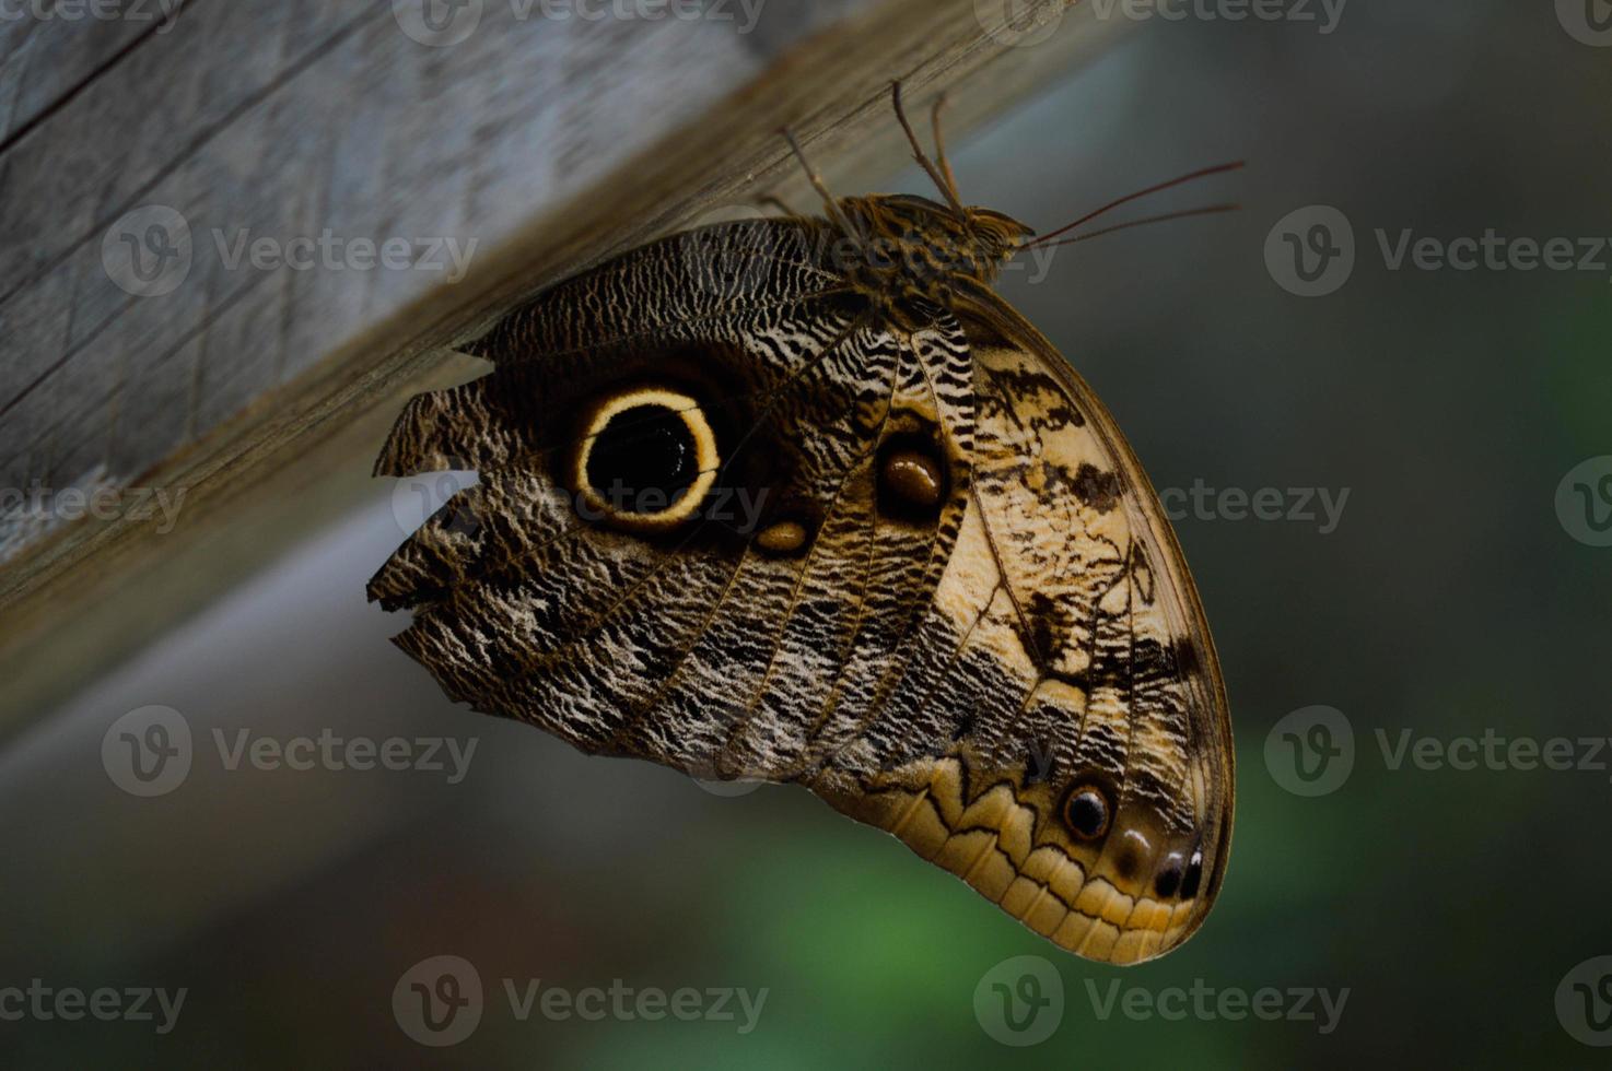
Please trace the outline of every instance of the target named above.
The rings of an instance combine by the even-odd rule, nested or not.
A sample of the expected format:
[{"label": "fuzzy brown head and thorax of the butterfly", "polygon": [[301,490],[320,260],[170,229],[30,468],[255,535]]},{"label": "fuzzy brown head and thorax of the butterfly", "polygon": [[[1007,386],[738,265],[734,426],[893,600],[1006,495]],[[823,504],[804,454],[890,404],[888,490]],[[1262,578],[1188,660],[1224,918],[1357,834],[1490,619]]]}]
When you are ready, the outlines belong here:
[{"label": "fuzzy brown head and thorax of the butterfly", "polygon": [[949,306],[958,290],[990,285],[1035,232],[988,208],[956,209],[925,196],[851,196],[838,203],[851,234],[846,275],[883,308]]}]

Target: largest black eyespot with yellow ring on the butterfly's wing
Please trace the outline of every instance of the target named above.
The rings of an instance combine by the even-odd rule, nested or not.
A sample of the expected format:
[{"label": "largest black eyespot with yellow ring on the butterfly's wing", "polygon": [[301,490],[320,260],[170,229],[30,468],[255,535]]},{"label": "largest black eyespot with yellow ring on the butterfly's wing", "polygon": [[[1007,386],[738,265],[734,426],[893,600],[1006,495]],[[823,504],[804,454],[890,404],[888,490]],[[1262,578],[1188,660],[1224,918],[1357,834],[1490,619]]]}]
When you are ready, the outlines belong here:
[{"label": "largest black eyespot with yellow ring on the butterfly's wing", "polygon": [[588,519],[666,528],[693,517],[717,467],[716,435],[700,403],[643,388],[608,398],[585,420],[572,483]]}]

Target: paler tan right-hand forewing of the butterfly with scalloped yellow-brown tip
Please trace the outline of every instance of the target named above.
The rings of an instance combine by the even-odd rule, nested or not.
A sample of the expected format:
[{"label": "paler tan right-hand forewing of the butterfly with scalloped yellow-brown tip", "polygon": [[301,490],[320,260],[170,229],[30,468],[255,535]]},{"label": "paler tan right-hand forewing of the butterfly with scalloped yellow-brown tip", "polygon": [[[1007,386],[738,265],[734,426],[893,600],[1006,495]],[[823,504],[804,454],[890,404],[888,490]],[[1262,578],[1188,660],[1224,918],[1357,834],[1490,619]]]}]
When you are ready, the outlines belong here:
[{"label": "paler tan right-hand forewing of the butterfly with scalloped yellow-brown tip", "polygon": [[[943,713],[956,707],[966,731],[896,768],[853,747],[819,791],[1059,945],[1151,958],[1196,929],[1225,863],[1232,755],[1214,649],[1101,403],[993,296],[966,322],[970,506],[927,622],[930,655],[885,726],[922,738],[956,725]],[[1104,815],[1082,829],[1070,807],[1088,789]]]}]

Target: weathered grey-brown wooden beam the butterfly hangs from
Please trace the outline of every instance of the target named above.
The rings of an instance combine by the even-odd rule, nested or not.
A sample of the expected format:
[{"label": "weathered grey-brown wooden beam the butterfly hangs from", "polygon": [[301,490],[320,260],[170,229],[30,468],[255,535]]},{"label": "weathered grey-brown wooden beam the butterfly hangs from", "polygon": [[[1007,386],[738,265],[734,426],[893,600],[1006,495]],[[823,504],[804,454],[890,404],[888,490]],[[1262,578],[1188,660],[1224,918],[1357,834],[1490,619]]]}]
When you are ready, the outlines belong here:
[{"label": "weathered grey-brown wooden beam the butterfly hangs from", "polygon": [[[1061,0],[1028,6],[1057,32],[1001,32],[974,0],[766,5],[750,34],[487,3],[466,40],[426,47],[390,5],[193,0],[64,81],[0,153],[0,488],[184,501],[171,531],[126,511],[13,544],[0,731],[350,507],[400,399],[466,378],[453,343],[516,300],[711,209],[809,205],[780,126],[854,192],[903,155],[891,77],[917,105],[959,84],[961,130],[1119,31]],[[113,283],[103,240],[153,203],[189,222],[192,263],[140,298]],[[476,246],[448,283],[232,267],[214,232],[224,250],[322,234]]]}]

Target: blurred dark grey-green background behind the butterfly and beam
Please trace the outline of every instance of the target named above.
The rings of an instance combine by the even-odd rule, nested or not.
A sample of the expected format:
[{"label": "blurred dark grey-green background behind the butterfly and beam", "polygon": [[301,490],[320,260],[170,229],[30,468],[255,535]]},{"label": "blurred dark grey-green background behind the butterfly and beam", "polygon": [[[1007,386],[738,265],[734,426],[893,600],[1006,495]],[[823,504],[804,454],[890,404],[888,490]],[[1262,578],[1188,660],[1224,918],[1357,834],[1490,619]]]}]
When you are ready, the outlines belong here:
[{"label": "blurred dark grey-green background behind the butterfly and beam", "polygon": [[[1146,208],[1238,200],[1240,214],[1072,246],[1003,292],[1107,401],[1161,490],[1349,494],[1325,533],[1225,509],[1177,525],[1240,771],[1225,889],[1182,950],[1128,971],[1085,963],[801,791],[711,791],[451,705],[385,643],[403,622],[364,604],[406,512],[377,486],[345,525],[84,681],[0,752],[0,986],[189,990],[166,1036],[0,1021],[0,1063],[1612,1065],[1557,1002],[1568,971],[1612,953],[1612,749],[1599,771],[1457,771],[1394,770],[1378,746],[1404,730],[1612,733],[1612,549],[1575,538],[1557,496],[1612,454],[1612,256],[1594,271],[1390,271],[1377,238],[1612,237],[1612,48],[1575,40],[1572,13],[1354,0],[1330,34],[1153,18],[954,147],[970,201],[1041,229],[1248,159]],[[916,169],[888,188],[927,192]],[[1265,245],[1314,205],[1348,217],[1357,261],[1335,293],[1301,298]],[[177,791],[135,799],[108,779],[102,739],[148,704],[185,717],[195,762]],[[1265,744],[1312,705],[1343,713],[1356,755],[1336,791],[1306,797]],[[456,784],[227,770],[213,730],[242,728],[477,749]],[[413,1042],[392,1003],[437,955],[464,957],[487,990],[474,1034],[440,1050]],[[1051,1037],[1006,1047],[975,990],[1020,955],[1051,965],[1064,1000]],[[767,995],[748,1032],[743,1016],[519,1021],[506,978]],[[1330,1032],[1103,1018],[1091,987],[1106,999],[1116,979],[1153,999],[1194,982],[1348,997]]]}]

